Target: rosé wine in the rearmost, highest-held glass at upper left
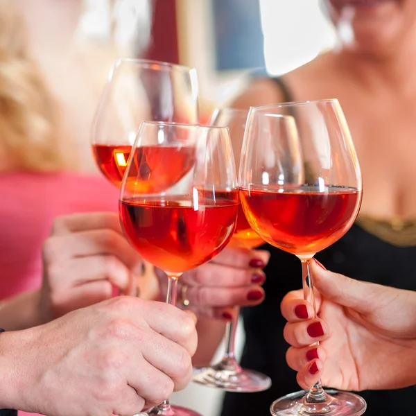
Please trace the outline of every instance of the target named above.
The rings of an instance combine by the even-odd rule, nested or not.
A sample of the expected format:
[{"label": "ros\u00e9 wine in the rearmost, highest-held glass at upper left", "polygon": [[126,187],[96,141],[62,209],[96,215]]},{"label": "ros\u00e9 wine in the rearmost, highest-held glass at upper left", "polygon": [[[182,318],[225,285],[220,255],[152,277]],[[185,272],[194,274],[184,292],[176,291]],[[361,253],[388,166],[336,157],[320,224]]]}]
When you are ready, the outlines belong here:
[{"label": "ros\u00e9 wine in the rearmost, highest-held glass at upper left", "polygon": [[[94,156],[110,182],[121,185],[131,146],[94,145]],[[193,146],[140,146],[136,148],[125,187],[132,193],[158,193],[179,182],[195,164]]]}]

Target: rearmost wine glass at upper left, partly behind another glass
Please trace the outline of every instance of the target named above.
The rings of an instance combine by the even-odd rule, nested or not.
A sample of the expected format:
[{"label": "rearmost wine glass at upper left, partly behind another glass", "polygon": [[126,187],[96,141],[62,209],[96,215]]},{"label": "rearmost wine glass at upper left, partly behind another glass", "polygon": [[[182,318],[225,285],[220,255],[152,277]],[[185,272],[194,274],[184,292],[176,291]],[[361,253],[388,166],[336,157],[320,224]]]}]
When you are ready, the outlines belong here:
[{"label": "rearmost wine glass at upper left, partly behind another glass", "polygon": [[92,125],[98,168],[120,187],[141,121],[198,122],[196,70],[152,60],[116,60]]}]

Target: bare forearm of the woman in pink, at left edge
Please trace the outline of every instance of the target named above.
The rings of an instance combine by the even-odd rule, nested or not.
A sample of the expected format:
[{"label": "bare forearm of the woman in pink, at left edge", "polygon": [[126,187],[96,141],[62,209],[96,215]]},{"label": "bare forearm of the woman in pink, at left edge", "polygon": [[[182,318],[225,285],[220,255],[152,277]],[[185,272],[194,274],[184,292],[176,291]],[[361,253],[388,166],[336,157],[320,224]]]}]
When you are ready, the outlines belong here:
[{"label": "bare forearm of the woman in pink, at left edge", "polygon": [[0,327],[16,331],[41,324],[40,291],[27,291],[1,303]]}]

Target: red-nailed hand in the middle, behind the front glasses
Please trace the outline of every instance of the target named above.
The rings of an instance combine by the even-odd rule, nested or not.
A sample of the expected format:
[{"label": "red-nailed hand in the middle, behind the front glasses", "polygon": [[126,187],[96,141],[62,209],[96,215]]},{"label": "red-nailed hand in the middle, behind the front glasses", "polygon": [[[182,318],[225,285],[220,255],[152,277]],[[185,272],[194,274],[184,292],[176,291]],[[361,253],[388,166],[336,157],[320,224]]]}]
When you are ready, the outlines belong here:
[{"label": "red-nailed hand in the middle, behind the front glasses", "polygon": [[[218,256],[196,269],[184,272],[179,279],[178,297],[187,286],[187,309],[199,318],[231,320],[233,306],[254,306],[264,299],[261,284],[266,281],[263,268],[270,253],[227,246]],[[162,295],[166,293],[168,277],[156,270]],[[177,306],[181,306],[178,302]]]}]

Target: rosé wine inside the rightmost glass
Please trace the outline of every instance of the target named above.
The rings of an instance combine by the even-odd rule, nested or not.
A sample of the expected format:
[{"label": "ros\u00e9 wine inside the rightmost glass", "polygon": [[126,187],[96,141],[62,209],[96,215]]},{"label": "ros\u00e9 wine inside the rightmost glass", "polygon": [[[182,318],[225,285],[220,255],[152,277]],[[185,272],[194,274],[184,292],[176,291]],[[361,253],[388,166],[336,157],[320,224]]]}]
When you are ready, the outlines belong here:
[{"label": "ros\u00e9 wine inside the rightmost glass", "polygon": [[240,190],[252,227],[268,243],[293,254],[315,254],[340,239],[361,205],[354,188]]}]

